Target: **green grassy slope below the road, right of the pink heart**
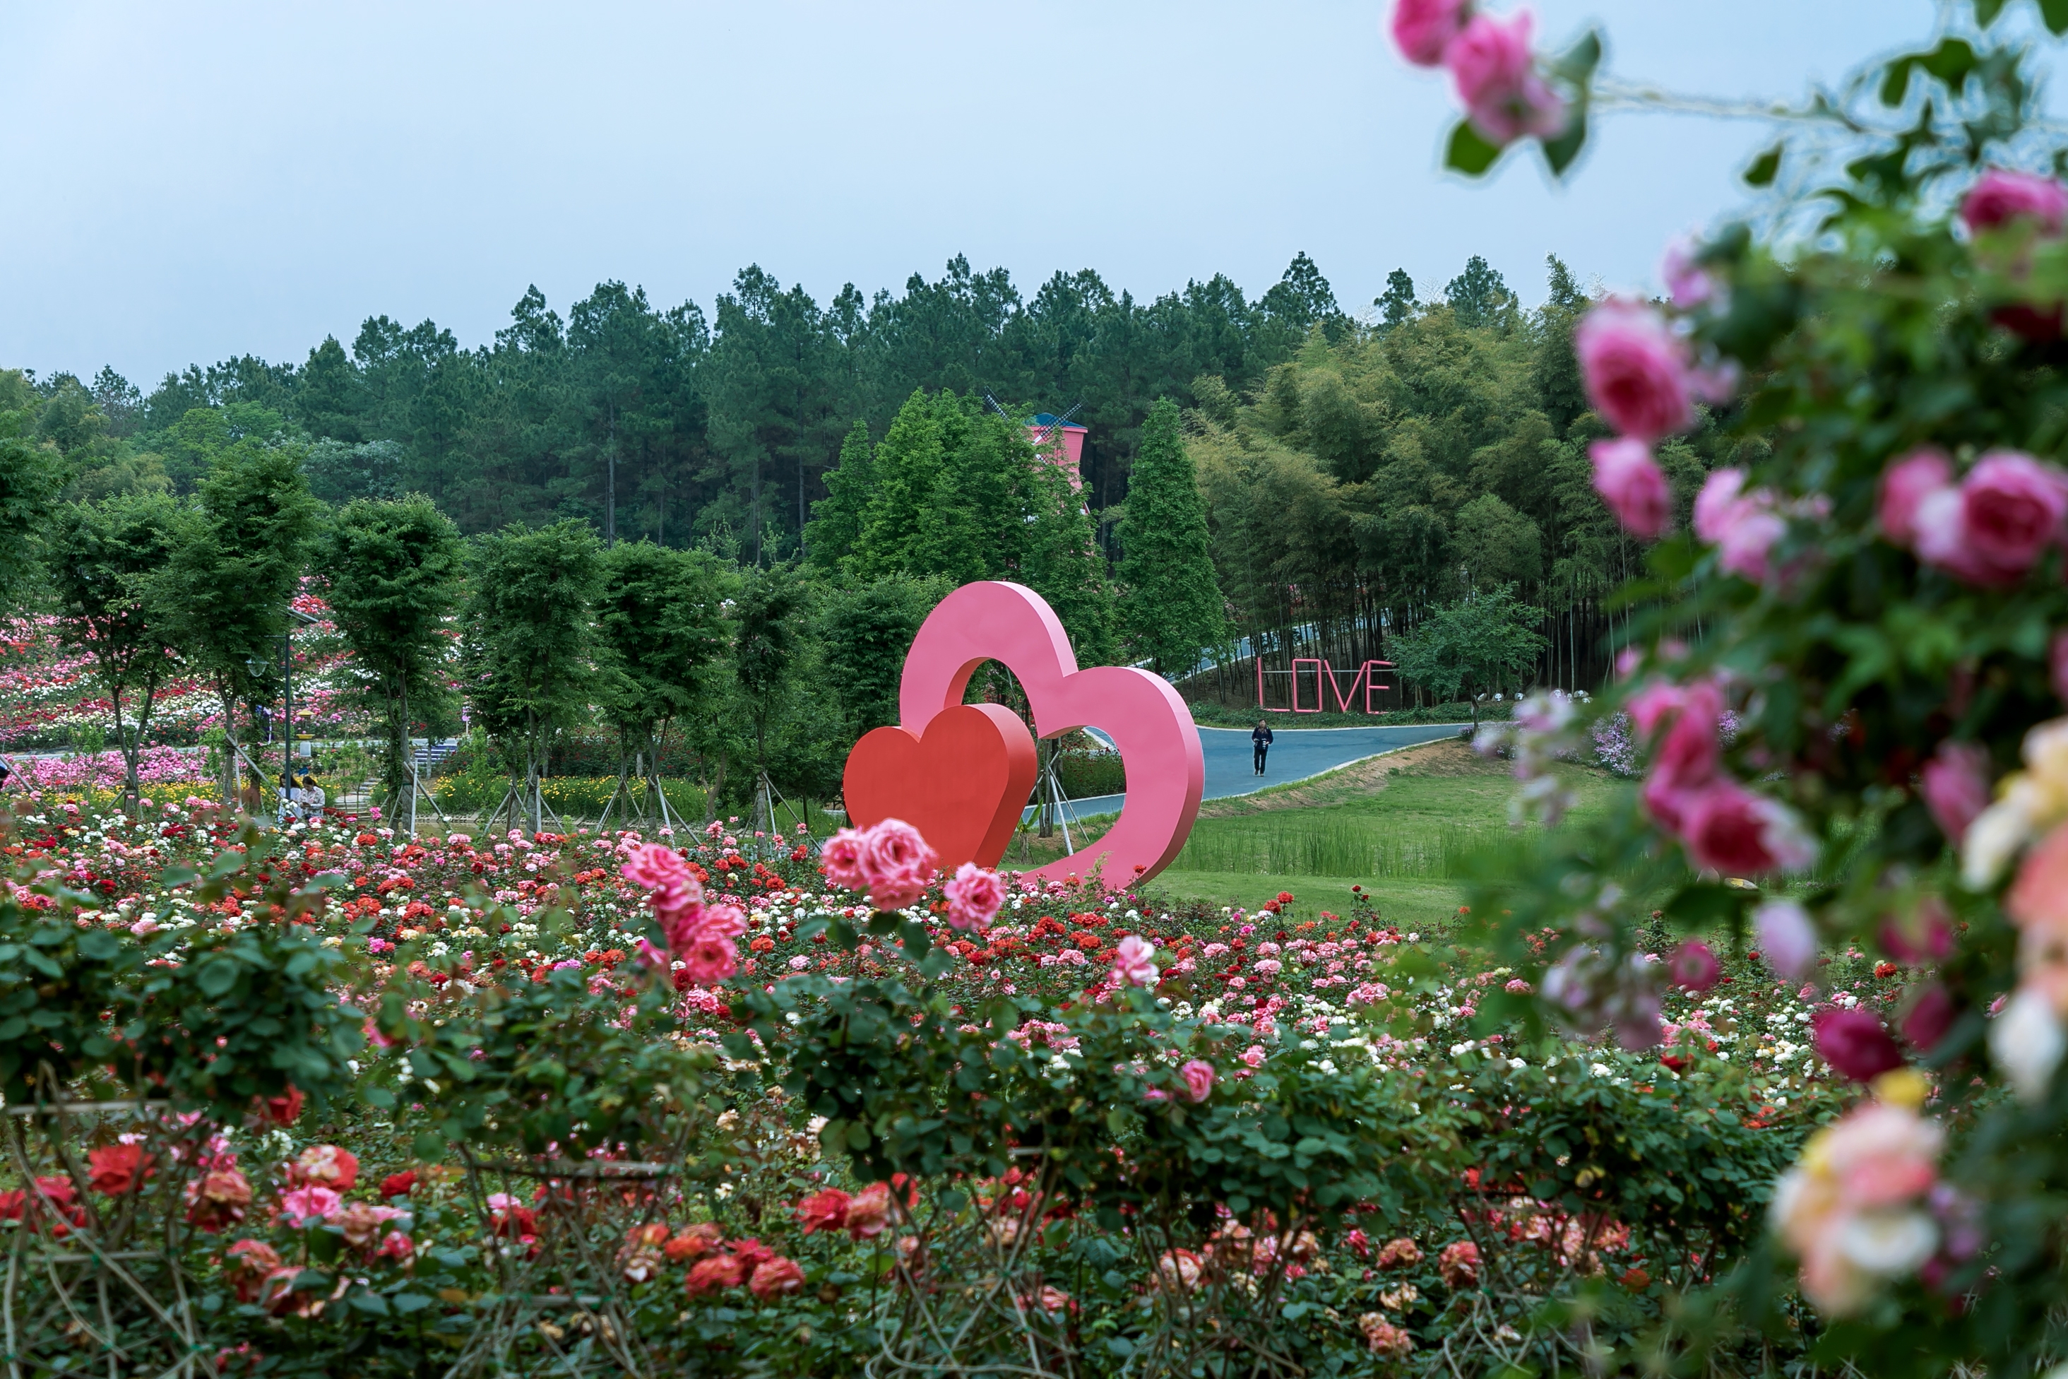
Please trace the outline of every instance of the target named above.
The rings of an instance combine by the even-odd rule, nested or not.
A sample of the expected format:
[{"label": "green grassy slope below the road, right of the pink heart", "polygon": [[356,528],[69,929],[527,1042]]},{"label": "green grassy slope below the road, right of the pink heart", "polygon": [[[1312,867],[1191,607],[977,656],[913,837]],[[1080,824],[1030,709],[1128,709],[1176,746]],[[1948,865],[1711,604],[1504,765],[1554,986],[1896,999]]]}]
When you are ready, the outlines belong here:
[{"label": "green grassy slope below the road, right of the pink heart", "polygon": [[[1559,767],[1601,808],[1607,775]],[[1278,891],[1342,912],[1350,885],[1408,928],[1464,903],[1470,868],[1512,848],[1508,765],[1462,742],[1433,742],[1239,800],[1212,800],[1177,864],[1152,889],[1175,899],[1255,908]]]}]

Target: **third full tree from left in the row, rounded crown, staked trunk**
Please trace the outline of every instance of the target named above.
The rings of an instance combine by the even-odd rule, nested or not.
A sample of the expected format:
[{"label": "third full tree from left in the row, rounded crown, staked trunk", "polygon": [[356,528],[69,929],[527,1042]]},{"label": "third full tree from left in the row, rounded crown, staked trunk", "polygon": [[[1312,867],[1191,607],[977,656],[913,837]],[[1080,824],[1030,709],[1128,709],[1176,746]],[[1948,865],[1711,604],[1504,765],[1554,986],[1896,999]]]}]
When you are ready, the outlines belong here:
[{"label": "third full tree from left in the row, rounded crown, staked trunk", "polygon": [[447,697],[449,618],[463,554],[459,529],[422,494],[349,502],[323,540],[318,564],[329,579],[331,618],[385,730],[381,786],[389,819],[412,798],[409,726]]}]

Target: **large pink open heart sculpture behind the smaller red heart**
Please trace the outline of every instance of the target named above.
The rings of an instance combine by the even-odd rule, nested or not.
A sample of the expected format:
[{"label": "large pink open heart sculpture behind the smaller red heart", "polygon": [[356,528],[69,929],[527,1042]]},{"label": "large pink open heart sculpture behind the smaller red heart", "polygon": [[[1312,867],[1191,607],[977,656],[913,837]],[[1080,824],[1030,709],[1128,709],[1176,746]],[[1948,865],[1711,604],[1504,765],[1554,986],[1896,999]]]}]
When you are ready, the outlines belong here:
[{"label": "large pink open heart sculpture behind the smaller red heart", "polygon": [[1185,701],[1162,676],[1129,666],[1077,670],[1055,610],[1024,585],[984,581],[941,600],[906,653],[898,715],[924,732],[935,713],[962,703],[970,676],[1001,662],[1020,676],[1042,738],[1102,728],[1127,765],[1127,804],[1092,848],[1032,872],[1061,881],[1100,868],[1108,889],[1148,881],[1179,854],[1199,817],[1206,755]]}]

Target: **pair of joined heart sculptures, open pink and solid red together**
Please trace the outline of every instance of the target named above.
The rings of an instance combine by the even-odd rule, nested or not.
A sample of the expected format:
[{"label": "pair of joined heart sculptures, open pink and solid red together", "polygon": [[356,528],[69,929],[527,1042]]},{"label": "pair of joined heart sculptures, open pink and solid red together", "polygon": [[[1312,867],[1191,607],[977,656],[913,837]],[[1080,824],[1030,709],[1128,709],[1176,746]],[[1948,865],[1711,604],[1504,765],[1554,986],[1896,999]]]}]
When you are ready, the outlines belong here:
[{"label": "pair of joined heart sculptures, open pink and solid red together", "polygon": [[1077,670],[1055,610],[1032,589],[984,581],[949,593],[920,624],[898,691],[898,728],[877,728],[848,753],[848,819],[869,827],[904,819],[943,870],[997,866],[1034,790],[1034,740],[1001,705],[962,695],[984,662],[1026,688],[1034,732],[1102,728],[1127,765],[1127,804],[1113,829],[1036,877],[1108,885],[1154,877],[1179,854],[1199,815],[1206,757],[1185,701],[1162,676],[1127,666]]}]

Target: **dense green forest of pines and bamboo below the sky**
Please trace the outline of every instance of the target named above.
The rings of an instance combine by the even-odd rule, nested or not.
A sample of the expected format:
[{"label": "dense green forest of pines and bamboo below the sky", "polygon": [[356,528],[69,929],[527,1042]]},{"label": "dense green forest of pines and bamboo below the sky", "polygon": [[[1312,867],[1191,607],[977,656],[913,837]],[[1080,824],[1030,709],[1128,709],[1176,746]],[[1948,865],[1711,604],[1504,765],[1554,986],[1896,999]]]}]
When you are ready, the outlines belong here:
[{"label": "dense green forest of pines and bamboo below the sky", "polygon": [[[62,461],[70,500],[186,498],[256,442],[333,509],[424,494],[469,535],[575,519],[844,589],[1022,577],[1086,657],[1216,662],[1189,691],[1226,703],[1255,693],[1251,647],[1282,701],[1290,655],[1357,666],[1506,589],[1537,616],[1534,670],[1506,678],[1586,686],[1636,550],[1588,484],[1586,298],[1547,267],[1537,308],[1472,258],[1441,294],[1396,271],[1355,312],[1305,254],[1257,300],[1216,275],[1137,302],[1090,271],[1022,298],[957,256],[902,296],[821,304],[751,267],[709,314],[604,283],[562,318],[529,289],[474,349],[372,316],[349,349],[151,393],[6,372],[0,418]],[[1036,411],[1088,428],[1082,494],[1028,467]],[[1663,447],[1683,509],[1710,434]]]}]

